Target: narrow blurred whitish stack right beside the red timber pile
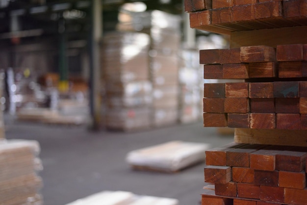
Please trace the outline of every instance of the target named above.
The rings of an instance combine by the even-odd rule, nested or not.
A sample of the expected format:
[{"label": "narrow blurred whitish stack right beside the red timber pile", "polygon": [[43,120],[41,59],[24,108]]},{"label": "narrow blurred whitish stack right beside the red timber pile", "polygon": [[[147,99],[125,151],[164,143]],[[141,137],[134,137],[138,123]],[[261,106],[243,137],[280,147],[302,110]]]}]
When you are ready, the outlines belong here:
[{"label": "narrow blurred whitish stack right beside the red timber pile", "polygon": [[182,67],[179,69],[179,122],[191,123],[202,118],[201,96],[203,77],[200,72],[199,51],[182,49]]}]

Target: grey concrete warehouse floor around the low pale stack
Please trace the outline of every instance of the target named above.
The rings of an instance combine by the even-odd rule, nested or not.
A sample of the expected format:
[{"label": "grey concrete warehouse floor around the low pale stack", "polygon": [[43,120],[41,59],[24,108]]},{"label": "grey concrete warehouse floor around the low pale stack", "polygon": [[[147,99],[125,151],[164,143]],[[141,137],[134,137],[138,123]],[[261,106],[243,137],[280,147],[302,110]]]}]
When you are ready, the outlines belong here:
[{"label": "grey concrete warehouse floor around the low pale stack", "polygon": [[141,132],[91,132],[84,126],[54,126],[6,122],[6,138],[37,140],[44,170],[45,205],[65,205],[103,191],[130,191],[137,195],[170,197],[180,205],[199,205],[204,182],[200,164],[179,173],[135,171],[125,162],[129,151],[171,140],[208,143],[218,147],[233,141],[202,122]]}]

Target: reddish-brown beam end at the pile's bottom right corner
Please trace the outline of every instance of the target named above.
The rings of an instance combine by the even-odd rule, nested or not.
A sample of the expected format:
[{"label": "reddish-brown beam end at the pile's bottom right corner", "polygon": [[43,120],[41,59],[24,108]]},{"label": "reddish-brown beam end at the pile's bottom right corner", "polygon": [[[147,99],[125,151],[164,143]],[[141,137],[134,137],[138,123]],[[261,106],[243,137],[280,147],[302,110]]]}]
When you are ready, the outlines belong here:
[{"label": "reddish-brown beam end at the pile's bottom right corner", "polygon": [[307,189],[290,189],[284,188],[284,203],[292,205],[307,204]]}]

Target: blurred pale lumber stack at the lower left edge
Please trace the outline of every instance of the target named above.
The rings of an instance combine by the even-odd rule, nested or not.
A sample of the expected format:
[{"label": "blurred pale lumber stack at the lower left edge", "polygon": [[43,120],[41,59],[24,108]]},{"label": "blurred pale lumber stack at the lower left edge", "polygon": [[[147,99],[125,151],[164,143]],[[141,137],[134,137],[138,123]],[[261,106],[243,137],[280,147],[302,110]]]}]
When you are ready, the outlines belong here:
[{"label": "blurred pale lumber stack at the lower left edge", "polygon": [[0,204],[42,205],[39,144],[29,140],[0,142]]}]

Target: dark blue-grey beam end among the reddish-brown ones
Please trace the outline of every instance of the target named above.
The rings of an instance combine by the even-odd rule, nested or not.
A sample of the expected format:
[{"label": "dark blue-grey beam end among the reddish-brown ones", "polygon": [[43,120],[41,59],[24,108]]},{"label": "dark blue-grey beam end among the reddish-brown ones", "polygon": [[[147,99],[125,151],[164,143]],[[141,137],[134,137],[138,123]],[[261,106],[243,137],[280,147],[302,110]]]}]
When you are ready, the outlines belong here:
[{"label": "dark blue-grey beam end among the reddish-brown ones", "polygon": [[277,81],[273,82],[274,98],[298,98],[298,81]]}]

